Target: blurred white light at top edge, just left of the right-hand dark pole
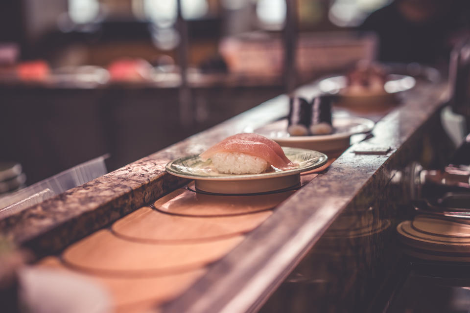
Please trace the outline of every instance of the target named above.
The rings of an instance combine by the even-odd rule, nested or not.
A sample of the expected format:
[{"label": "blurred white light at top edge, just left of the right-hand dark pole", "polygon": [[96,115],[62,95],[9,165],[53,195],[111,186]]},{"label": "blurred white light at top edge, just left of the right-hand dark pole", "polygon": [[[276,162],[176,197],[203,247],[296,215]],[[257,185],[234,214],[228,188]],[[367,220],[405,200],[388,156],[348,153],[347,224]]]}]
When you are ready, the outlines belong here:
[{"label": "blurred white light at top edge, just left of the right-hand dark pole", "polygon": [[259,0],[256,14],[266,28],[280,29],[285,21],[285,0]]}]

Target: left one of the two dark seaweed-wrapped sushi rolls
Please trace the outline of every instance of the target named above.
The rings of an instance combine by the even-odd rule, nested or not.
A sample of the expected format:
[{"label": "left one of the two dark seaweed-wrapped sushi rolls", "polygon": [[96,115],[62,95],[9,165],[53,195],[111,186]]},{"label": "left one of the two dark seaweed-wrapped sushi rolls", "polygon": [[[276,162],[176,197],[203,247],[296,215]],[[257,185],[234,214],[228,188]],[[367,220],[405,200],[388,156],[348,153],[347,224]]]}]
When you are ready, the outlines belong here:
[{"label": "left one of the two dark seaweed-wrapped sushi rolls", "polygon": [[304,98],[290,98],[287,132],[292,136],[305,136],[310,125],[311,106]]}]

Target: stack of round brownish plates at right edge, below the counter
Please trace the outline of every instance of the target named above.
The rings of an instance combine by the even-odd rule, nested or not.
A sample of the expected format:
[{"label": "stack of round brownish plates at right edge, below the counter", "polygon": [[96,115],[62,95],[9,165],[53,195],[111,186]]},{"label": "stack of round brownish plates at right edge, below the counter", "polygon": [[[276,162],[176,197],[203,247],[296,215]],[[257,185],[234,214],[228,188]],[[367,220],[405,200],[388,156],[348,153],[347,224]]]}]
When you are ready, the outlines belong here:
[{"label": "stack of round brownish plates at right edge, below the counter", "polygon": [[434,261],[470,262],[470,221],[418,215],[397,226],[404,252]]}]

